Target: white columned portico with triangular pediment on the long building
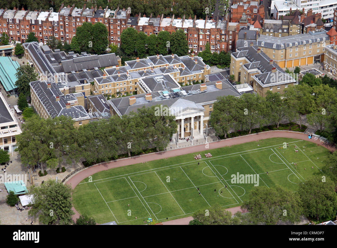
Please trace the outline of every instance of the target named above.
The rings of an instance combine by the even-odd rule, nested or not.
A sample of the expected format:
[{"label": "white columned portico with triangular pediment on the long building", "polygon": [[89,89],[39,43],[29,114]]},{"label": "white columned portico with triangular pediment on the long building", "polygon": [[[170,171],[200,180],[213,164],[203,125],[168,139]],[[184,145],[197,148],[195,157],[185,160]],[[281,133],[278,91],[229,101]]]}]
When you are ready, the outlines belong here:
[{"label": "white columned portico with triangular pediment on the long building", "polygon": [[[202,105],[178,99],[171,105],[170,111],[176,116],[177,134],[180,134],[180,137],[203,135],[205,109]],[[174,137],[178,137],[177,134],[174,134]]]}]

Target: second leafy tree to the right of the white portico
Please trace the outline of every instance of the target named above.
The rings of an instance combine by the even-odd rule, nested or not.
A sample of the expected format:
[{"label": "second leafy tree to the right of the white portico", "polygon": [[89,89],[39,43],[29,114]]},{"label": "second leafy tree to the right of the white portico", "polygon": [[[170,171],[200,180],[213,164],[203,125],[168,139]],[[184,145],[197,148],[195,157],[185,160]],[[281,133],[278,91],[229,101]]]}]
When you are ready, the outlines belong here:
[{"label": "second leafy tree to the right of the white portico", "polygon": [[249,134],[255,126],[266,123],[267,113],[266,99],[260,95],[243,94],[239,100],[238,124],[243,130],[249,130]]}]

